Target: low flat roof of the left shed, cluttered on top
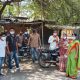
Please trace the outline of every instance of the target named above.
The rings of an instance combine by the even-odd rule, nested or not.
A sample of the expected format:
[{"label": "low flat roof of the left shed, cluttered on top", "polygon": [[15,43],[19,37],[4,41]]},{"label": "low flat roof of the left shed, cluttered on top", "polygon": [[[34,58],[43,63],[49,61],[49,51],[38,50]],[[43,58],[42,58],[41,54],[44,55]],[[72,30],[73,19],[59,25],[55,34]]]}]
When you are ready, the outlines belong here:
[{"label": "low flat roof of the left shed, cluttered on top", "polygon": [[[26,17],[14,17],[14,19],[21,19],[21,20],[25,20],[25,19],[28,19],[28,18],[26,18]],[[14,23],[14,24],[51,24],[51,25],[55,25],[55,22],[54,21],[43,21],[43,20],[35,20],[35,21],[25,21],[25,22],[23,22],[23,21],[21,21],[21,22],[19,22],[19,21],[17,21],[17,22],[14,22],[14,21],[12,21],[12,19],[10,19],[10,18],[4,18],[4,19],[2,19],[2,20],[0,20],[0,24],[12,24],[12,23]]]}]

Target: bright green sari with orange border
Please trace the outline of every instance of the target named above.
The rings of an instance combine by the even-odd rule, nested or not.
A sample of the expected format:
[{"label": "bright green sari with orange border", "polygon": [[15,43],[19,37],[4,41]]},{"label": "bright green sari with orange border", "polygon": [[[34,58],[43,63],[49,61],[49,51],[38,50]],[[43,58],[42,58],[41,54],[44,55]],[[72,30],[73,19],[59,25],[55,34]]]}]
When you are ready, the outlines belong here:
[{"label": "bright green sari with orange border", "polygon": [[[76,47],[72,48],[75,43],[79,44],[79,41],[77,41],[77,40],[73,41],[71,44],[69,44],[69,47],[68,47],[69,54],[68,54],[68,60],[67,60],[66,74],[69,77],[77,77],[77,74],[78,74],[78,65],[77,64],[79,61],[75,59],[75,56],[76,56],[76,53],[78,50],[76,49]],[[77,46],[77,48],[79,48],[79,46]]]}]

